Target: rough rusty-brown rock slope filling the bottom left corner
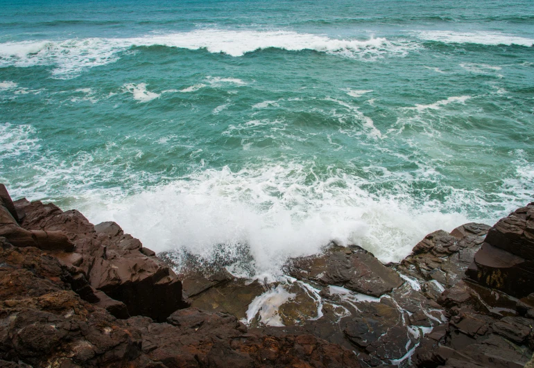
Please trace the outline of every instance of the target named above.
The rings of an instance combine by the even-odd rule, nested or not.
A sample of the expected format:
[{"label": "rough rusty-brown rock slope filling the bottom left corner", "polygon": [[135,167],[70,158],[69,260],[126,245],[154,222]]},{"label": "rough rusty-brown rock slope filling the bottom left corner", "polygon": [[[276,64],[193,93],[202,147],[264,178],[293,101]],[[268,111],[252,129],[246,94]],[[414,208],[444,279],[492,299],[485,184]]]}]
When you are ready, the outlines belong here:
[{"label": "rough rusty-brown rock slope filling the bottom left corner", "polygon": [[137,331],[80,299],[58,259],[1,239],[0,360],[21,367],[110,367],[139,356]]}]

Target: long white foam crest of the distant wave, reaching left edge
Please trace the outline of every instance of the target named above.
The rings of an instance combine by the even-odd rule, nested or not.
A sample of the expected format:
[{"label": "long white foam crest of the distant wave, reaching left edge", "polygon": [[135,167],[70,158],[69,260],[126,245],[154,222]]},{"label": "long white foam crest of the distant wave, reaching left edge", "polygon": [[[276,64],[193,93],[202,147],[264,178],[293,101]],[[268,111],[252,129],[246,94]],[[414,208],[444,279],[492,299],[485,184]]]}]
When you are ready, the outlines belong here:
[{"label": "long white foam crest of the distant wave, reaching left edge", "polygon": [[[134,38],[84,38],[0,43],[0,67],[53,65],[53,78],[78,76],[85,69],[119,59],[119,53],[132,46],[169,46],[183,49],[206,49],[234,57],[268,48],[288,51],[314,50],[348,58],[374,60],[386,55],[405,56],[418,49],[413,42],[391,42],[377,37],[369,40],[337,40],[323,35],[291,31],[203,29],[166,35]],[[223,81],[223,80],[221,80]]]}]

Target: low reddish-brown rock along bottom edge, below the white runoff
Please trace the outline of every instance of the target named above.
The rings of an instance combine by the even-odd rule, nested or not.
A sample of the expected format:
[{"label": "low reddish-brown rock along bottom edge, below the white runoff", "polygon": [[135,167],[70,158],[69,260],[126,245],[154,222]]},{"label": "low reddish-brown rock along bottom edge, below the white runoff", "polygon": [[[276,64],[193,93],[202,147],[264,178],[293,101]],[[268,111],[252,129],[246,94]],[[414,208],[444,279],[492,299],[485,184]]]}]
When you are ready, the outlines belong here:
[{"label": "low reddish-brown rock along bottom edge, below the white runoff", "polygon": [[223,313],[187,308],[166,324],[142,317],[128,324],[141,331],[146,356],[166,367],[360,367],[352,351],[316,336],[248,331]]}]

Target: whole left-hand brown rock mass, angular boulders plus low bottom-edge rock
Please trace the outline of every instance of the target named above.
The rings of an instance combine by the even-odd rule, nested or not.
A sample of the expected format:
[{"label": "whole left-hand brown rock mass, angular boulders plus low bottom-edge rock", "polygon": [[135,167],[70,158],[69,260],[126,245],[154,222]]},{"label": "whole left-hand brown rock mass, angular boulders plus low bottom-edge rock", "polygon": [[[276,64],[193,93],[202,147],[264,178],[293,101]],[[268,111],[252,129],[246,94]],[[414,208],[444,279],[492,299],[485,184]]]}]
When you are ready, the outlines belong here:
[{"label": "whole left-hand brown rock mass, angular boulders plus low bottom-edge rock", "polygon": [[0,367],[361,367],[309,333],[187,306],[174,272],[117,224],[12,202],[0,185]]}]

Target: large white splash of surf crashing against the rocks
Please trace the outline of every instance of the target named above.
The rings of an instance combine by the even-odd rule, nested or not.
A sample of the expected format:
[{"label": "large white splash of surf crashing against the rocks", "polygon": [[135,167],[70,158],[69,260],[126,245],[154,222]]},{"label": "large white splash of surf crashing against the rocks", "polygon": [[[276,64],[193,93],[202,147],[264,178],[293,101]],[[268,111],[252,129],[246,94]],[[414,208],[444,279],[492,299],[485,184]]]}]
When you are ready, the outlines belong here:
[{"label": "large white splash of surf crashing against the rocks", "polygon": [[429,232],[467,222],[462,214],[441,213],[434,202],[372,195],[361,189],[361,178],[350,175],[309,184],[310,170],[298,163],[236,173],[205,170],[78,207],[93,222],[117,221],[157,252],[182,249],[210,261],[239,256],[239,245],[246,245],[256,274],[277,274],[288,257],[316,254],[331,240],[398,261]]}]

